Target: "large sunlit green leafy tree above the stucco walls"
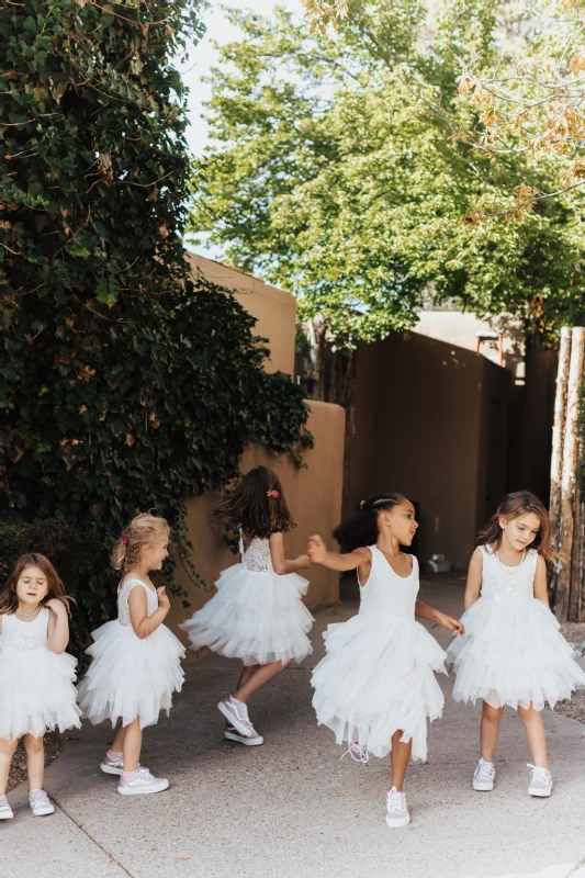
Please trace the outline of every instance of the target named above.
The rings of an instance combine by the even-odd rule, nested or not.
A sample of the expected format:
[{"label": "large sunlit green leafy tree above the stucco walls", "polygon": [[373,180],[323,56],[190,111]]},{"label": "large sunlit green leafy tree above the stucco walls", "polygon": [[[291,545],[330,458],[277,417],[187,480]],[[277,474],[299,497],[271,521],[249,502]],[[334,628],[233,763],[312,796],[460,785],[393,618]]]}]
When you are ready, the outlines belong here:
[{"label": "large sunlit green leafy tree above the stucco walls", "polygon": [[581,312],[573,205],[475,222],[477,200],[511,204],[526,170],[515,154],[470,158],[452,121],[475,123],[458,95],[458,53],[495,53],[495,12],[488,0],[453,3],[425,35],[416,0],[353,0],[335,36],[308,35],[282,10],[232,13],[244,37],[213,72],[194,229],[291,289],[314,349],[404,330],[429,296],[539,331]]}]

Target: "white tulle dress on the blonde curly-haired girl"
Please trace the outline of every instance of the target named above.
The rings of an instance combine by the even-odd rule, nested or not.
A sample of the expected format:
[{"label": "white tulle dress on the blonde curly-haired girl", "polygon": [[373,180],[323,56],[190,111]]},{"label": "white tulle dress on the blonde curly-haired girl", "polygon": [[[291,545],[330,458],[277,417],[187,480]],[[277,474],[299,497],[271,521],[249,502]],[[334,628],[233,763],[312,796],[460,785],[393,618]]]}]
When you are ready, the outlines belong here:
[{"label": "white tulle dress on the blonde curly-haired girl", "polygon": [[93,724],[105,719],[128,725],[137,717],[140,728],[154,725],[161,710],[167,716],[172,694],[181,690],[184,674],[181,642],[164,624],[143,640],[130,620],[128,595],[133,588],[146,592],[147,614],[158,608],[153,588],[136,577],[126,579],[117,595],[117,619],[93,631],[94,643],[87,650],[92,662],[79,686],[79,706]]}]

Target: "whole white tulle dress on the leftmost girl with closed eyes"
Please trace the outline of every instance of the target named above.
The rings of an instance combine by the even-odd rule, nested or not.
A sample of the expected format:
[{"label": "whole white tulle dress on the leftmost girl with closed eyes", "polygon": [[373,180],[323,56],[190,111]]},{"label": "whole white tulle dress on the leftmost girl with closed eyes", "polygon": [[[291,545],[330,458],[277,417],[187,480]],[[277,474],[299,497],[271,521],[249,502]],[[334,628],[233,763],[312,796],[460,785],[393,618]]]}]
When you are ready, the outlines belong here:
[{"label": "whole white tulle dress on the leftmost girl with closed eyes", "polygon": [[46,731],[81,725],[76,703],[77,662],[48,646],[49,610],[32,622],[0,617],[0,738],[41,738]]}]

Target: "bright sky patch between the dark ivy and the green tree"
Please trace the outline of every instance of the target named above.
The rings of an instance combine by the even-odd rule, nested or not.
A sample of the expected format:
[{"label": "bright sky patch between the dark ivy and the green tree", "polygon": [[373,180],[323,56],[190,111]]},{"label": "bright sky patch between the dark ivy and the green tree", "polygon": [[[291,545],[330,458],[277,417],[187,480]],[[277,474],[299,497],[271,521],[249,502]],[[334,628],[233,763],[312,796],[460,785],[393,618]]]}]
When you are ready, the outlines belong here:
[{"label": "bright sky patch between the dark ivy and the green tree", "polygon": [[[237,9],[251,9],[254,12],[260,12],[263,15],[270,15],[275,5],[275,0],[227,0],[225,5]],[[299,16],[303,15],[302,0],[280,0],[280,5],[290,10],[296,10]],[[211,8],[207,10],[204,20],[207,25],[207,32],[203,40],[193,47],[191,59],[181,65],[182,79],[190,90],[189,95],[189,112],[191,116],[191,127],[189,130],[189,145],[195,156],[200,156],[207,142],[207,132],[205,123],[200,119],[203,109],[203,102],[211,95],[211,87],[209,83],[201,82],[201,77],[206,76],[217,59],[217,52],[213,48],[212,43],[216,42],[220,45],[229,43],[237,40],[240,31],[232,27],[222,12],[223,3],[217,0],[211,0]]]}]

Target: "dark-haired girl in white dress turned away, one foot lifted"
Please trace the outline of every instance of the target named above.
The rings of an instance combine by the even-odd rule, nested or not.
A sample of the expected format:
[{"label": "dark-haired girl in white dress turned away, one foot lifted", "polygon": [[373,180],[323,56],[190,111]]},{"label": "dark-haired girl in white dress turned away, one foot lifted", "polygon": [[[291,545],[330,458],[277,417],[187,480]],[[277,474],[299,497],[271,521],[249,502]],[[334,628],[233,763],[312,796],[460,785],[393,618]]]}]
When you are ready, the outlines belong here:
[{"label": "dark-haired girl in white dress turned away, one foot lifted", "polygon": [[255,746],[263,738],[248,716],[250,697],[312,651],[307,631],[314,619],[301,600],[308,583],[295,572],[310,561],[284,555],[284,533],[294,521],[268,466],[250,470],[217,514],[239,532],[240,562],[223,571],[217,594],[181,628],[192,649],[209,646],[244,663],[234,694],[217,707],[226,718],[225,738]]}]

